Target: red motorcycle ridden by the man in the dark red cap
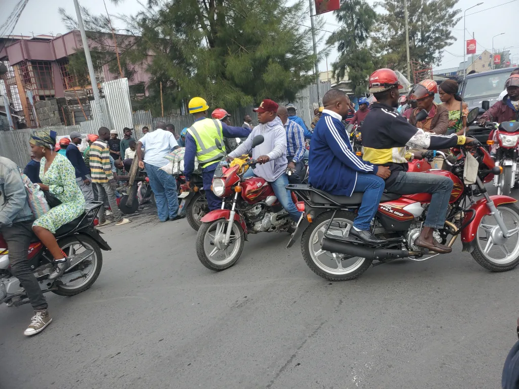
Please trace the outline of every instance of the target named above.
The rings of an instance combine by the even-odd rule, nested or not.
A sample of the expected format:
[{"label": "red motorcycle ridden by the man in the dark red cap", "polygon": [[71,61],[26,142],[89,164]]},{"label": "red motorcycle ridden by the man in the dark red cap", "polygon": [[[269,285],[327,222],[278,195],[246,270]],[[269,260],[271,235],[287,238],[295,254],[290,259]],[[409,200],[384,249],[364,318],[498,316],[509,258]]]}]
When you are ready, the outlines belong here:
[{"label": "red motorcycle ridden by the man in the dark red cap", "polygon": [[[263,141],[262,135],[256,135],[252,147]],[[216,145],[221,148],[219,142]],[[229,166],[223,160],[214,172],[212,190],[222,198],[222,208],[202,217],[196,241],[198,259],[211,270],[233,266],[243,251],[247,234],[289,231],[292,226],[292,218],[268,182],[260,177],[243,179],[247,168],[254,169],[257,161],[244,156],[241,162]],[[297,202],[294,194],[292,201]]]}]

